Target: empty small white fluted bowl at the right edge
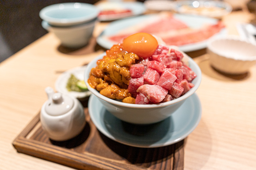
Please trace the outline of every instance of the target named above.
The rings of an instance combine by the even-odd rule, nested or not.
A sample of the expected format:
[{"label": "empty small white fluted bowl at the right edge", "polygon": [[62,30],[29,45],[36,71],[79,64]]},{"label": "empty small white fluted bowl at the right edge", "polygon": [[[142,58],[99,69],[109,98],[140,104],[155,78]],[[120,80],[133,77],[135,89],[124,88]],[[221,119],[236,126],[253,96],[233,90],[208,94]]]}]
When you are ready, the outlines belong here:
[{"label": "empty small white fluted bowl at the right edge", "polygon": [[256,64],[256,45],[238,37],[216,37],[207,44],[211,65],[228,74],[243,74]]}]

